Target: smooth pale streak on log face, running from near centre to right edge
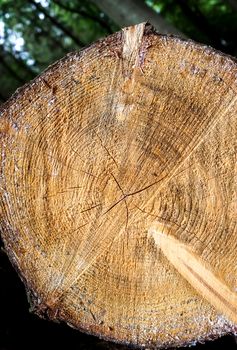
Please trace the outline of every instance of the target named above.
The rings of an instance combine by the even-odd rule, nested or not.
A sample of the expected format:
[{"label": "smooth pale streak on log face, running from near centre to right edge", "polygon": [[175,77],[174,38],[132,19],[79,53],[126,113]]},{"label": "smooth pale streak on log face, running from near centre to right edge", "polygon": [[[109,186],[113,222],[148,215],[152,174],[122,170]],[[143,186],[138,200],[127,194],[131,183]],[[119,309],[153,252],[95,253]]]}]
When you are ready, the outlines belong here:
[{"label": "smooth pale streak on log face, running from near centre to right edge", "polygon": [[165,231],[165,225],[155,224],[149,233],[185,280],[220,313],[237,324],[237,293],[210,271],[209,266],[192,251],[191,246],[180,243]]}]

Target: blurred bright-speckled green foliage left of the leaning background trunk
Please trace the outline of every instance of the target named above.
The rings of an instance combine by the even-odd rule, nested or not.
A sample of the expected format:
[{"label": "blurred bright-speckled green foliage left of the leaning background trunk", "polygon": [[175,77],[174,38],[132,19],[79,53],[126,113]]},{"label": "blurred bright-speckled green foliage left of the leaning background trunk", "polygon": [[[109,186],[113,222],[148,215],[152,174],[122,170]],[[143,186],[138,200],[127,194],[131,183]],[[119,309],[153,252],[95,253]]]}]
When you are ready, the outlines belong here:
[{"label": "blurred bright-speckled green foliage left of the leaning background trunk", "polygon": [[118,30],[88,1],[0,1],[0,99],[70,51]]}]

